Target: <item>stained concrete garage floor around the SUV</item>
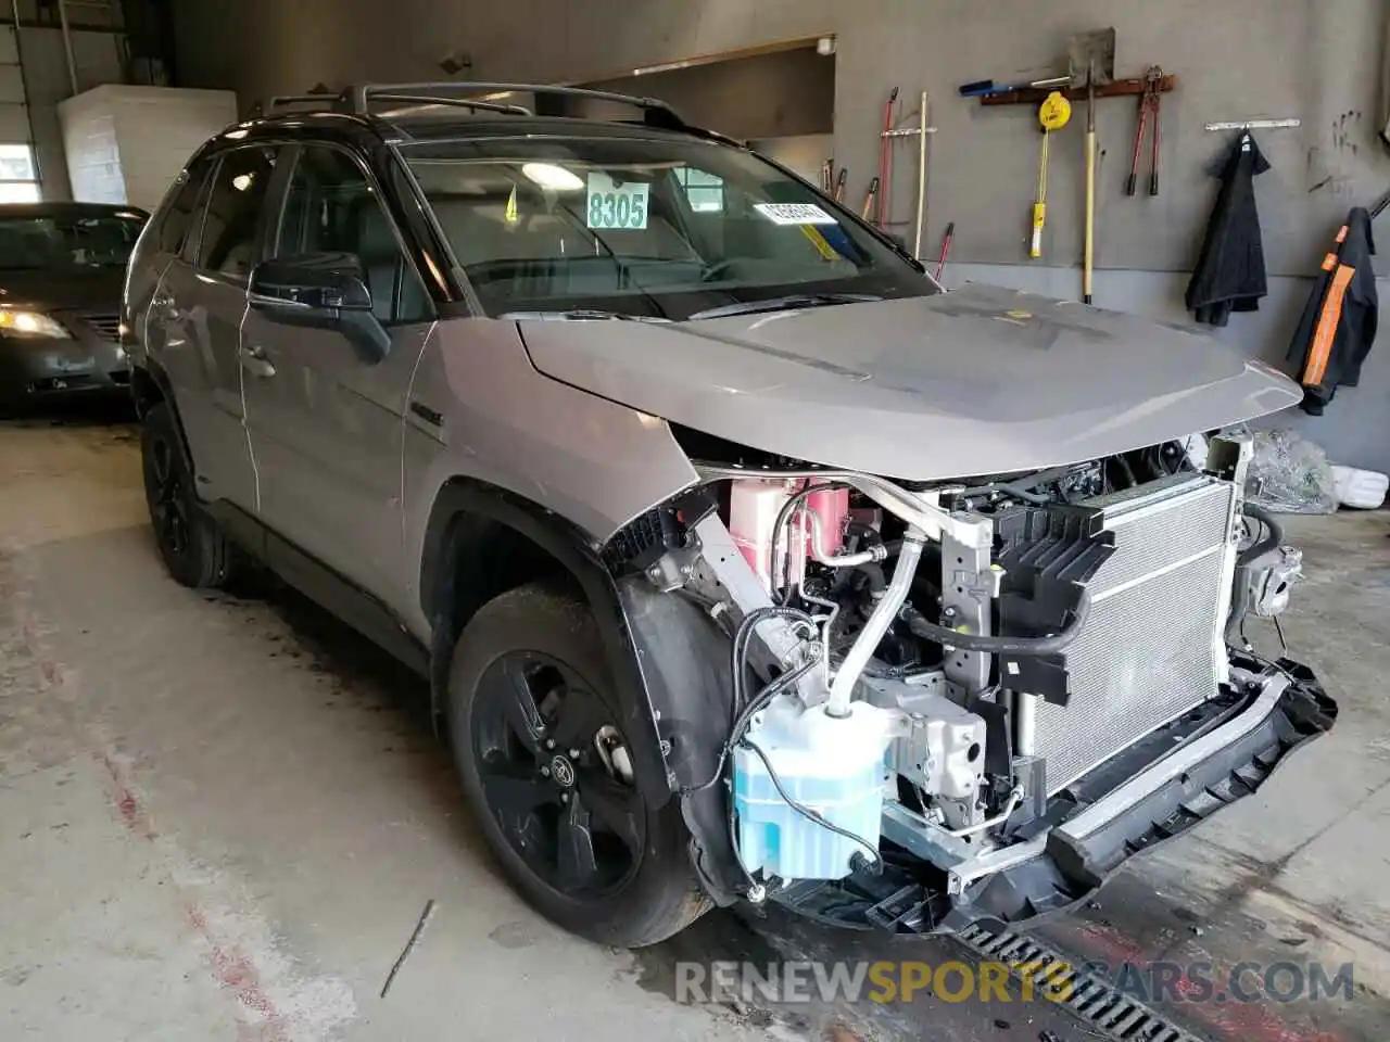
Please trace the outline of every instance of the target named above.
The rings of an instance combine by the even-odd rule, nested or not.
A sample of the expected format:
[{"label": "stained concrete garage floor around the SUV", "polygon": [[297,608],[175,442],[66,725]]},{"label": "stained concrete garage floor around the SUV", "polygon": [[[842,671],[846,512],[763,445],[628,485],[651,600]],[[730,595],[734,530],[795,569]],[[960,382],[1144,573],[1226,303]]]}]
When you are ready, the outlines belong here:
[{"label": "stained concrete garage floor around the SUV", "polygon": [[[1337,727],[1257,799],[1042,932],[1116,961],[1351,960],[1352,1003],[1180,1014],[1213,1038],[1379,1042],[1390,515],[1295,528],[1309,578],[1286,628],[1340,702]],[[635,957],[575,941],[498,877],[420,695],[293,595],[203,596],[167,579],[132,427],[0,425],[0,1036],[1090,1036],[1041,1007],[674,1003],[678,957],[947,949],[728,914]],[[428,931],[379,998],[431,899]]]}]

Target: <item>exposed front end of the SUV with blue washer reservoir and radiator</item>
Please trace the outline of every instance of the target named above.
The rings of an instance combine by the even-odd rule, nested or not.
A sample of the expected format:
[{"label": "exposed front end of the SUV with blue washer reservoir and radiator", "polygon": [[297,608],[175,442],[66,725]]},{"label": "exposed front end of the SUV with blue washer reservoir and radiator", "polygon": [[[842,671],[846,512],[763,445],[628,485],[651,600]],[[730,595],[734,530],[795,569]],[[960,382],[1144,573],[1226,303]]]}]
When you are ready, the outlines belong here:
[{"label": "exposed front end of the SUV with blue washer reservoir and radiator", "polygon": [[682,795],[723,797],[741,896],[906,932],[1027,918],[1201,820],[1223,777],[1252,791],[1241,742],[1326,729],[1312,675],[1244,639],[1301,571],[1244,500],[1248,456],[920,486],[696,463],[609,556],[727,636],[727,728]]}]

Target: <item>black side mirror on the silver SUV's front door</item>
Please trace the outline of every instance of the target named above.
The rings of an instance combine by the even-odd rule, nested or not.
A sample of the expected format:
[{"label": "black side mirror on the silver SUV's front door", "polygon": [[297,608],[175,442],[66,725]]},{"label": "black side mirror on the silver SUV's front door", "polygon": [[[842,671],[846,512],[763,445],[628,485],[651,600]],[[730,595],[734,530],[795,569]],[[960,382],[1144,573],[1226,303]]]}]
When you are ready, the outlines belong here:
[{"label": "black side mirror on the silver SUV's front door", "polygon": [[272,257],[252,270],[247,303],[272,322],[336,329],[368,361],[391,350],[391,333],[373,313],[361,261],[350,253]]}]

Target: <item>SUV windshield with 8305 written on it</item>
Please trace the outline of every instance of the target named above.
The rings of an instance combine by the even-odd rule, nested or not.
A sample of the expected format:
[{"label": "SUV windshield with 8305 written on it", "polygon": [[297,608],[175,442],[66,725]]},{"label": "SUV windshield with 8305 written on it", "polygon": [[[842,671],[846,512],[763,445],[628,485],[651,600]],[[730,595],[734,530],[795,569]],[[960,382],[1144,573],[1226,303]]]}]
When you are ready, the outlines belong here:
[{"label": "SUV windshield with 8305 written on it", "polygon": [[834,201],[739,149],[512,136],[402,156],[491,315],[684,321],[784,296],[938,292]]}]

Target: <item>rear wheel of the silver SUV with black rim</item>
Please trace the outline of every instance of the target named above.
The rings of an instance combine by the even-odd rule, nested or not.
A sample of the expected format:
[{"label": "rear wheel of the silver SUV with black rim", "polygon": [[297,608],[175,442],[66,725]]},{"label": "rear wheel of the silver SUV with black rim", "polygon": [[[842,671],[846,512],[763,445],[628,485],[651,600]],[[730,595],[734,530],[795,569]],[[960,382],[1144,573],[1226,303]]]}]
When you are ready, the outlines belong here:
[{"label": "rear wheel of the silver SUV with black rim", "polygon": [[222,586],[231,575],[231,546],[193,495],[193,478],[167,404],[145,415],[140,463],[150,527],[168,574],[190,589]]}]

